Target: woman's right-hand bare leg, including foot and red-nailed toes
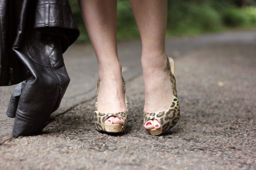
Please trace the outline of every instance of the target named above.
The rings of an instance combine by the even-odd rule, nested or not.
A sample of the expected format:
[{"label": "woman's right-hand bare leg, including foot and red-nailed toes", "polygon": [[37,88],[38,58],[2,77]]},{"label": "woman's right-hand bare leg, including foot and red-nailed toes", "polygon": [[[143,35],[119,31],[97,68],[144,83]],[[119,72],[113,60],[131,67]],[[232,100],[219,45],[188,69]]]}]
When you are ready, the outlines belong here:
[{"label": "woman's right-hand bare leg, including foot and red-nailed toes", "polygon": [[[165,52],[167,0],[129,0],[142,40],[142,68],[145,84],[145,112],[167,110],[173,91]],[[160,128],[157,120],[144,124],[146,129]]]}]

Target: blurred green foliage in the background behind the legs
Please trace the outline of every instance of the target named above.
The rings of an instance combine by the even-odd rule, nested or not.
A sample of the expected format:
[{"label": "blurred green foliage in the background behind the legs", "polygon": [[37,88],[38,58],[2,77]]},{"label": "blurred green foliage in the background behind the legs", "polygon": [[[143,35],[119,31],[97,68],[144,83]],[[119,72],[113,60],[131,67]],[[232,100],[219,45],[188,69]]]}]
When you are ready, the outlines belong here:
[{"label": "blurred green foliage in the background behind the legs", "polygon": [[[81,35],[88,41],[77,0],[69,0]],[[167,35],[195,35],[226,28],[256,28],[256,0],[168,0]],[[117,3],[117,39],[139,37],[128,0]]]}]

